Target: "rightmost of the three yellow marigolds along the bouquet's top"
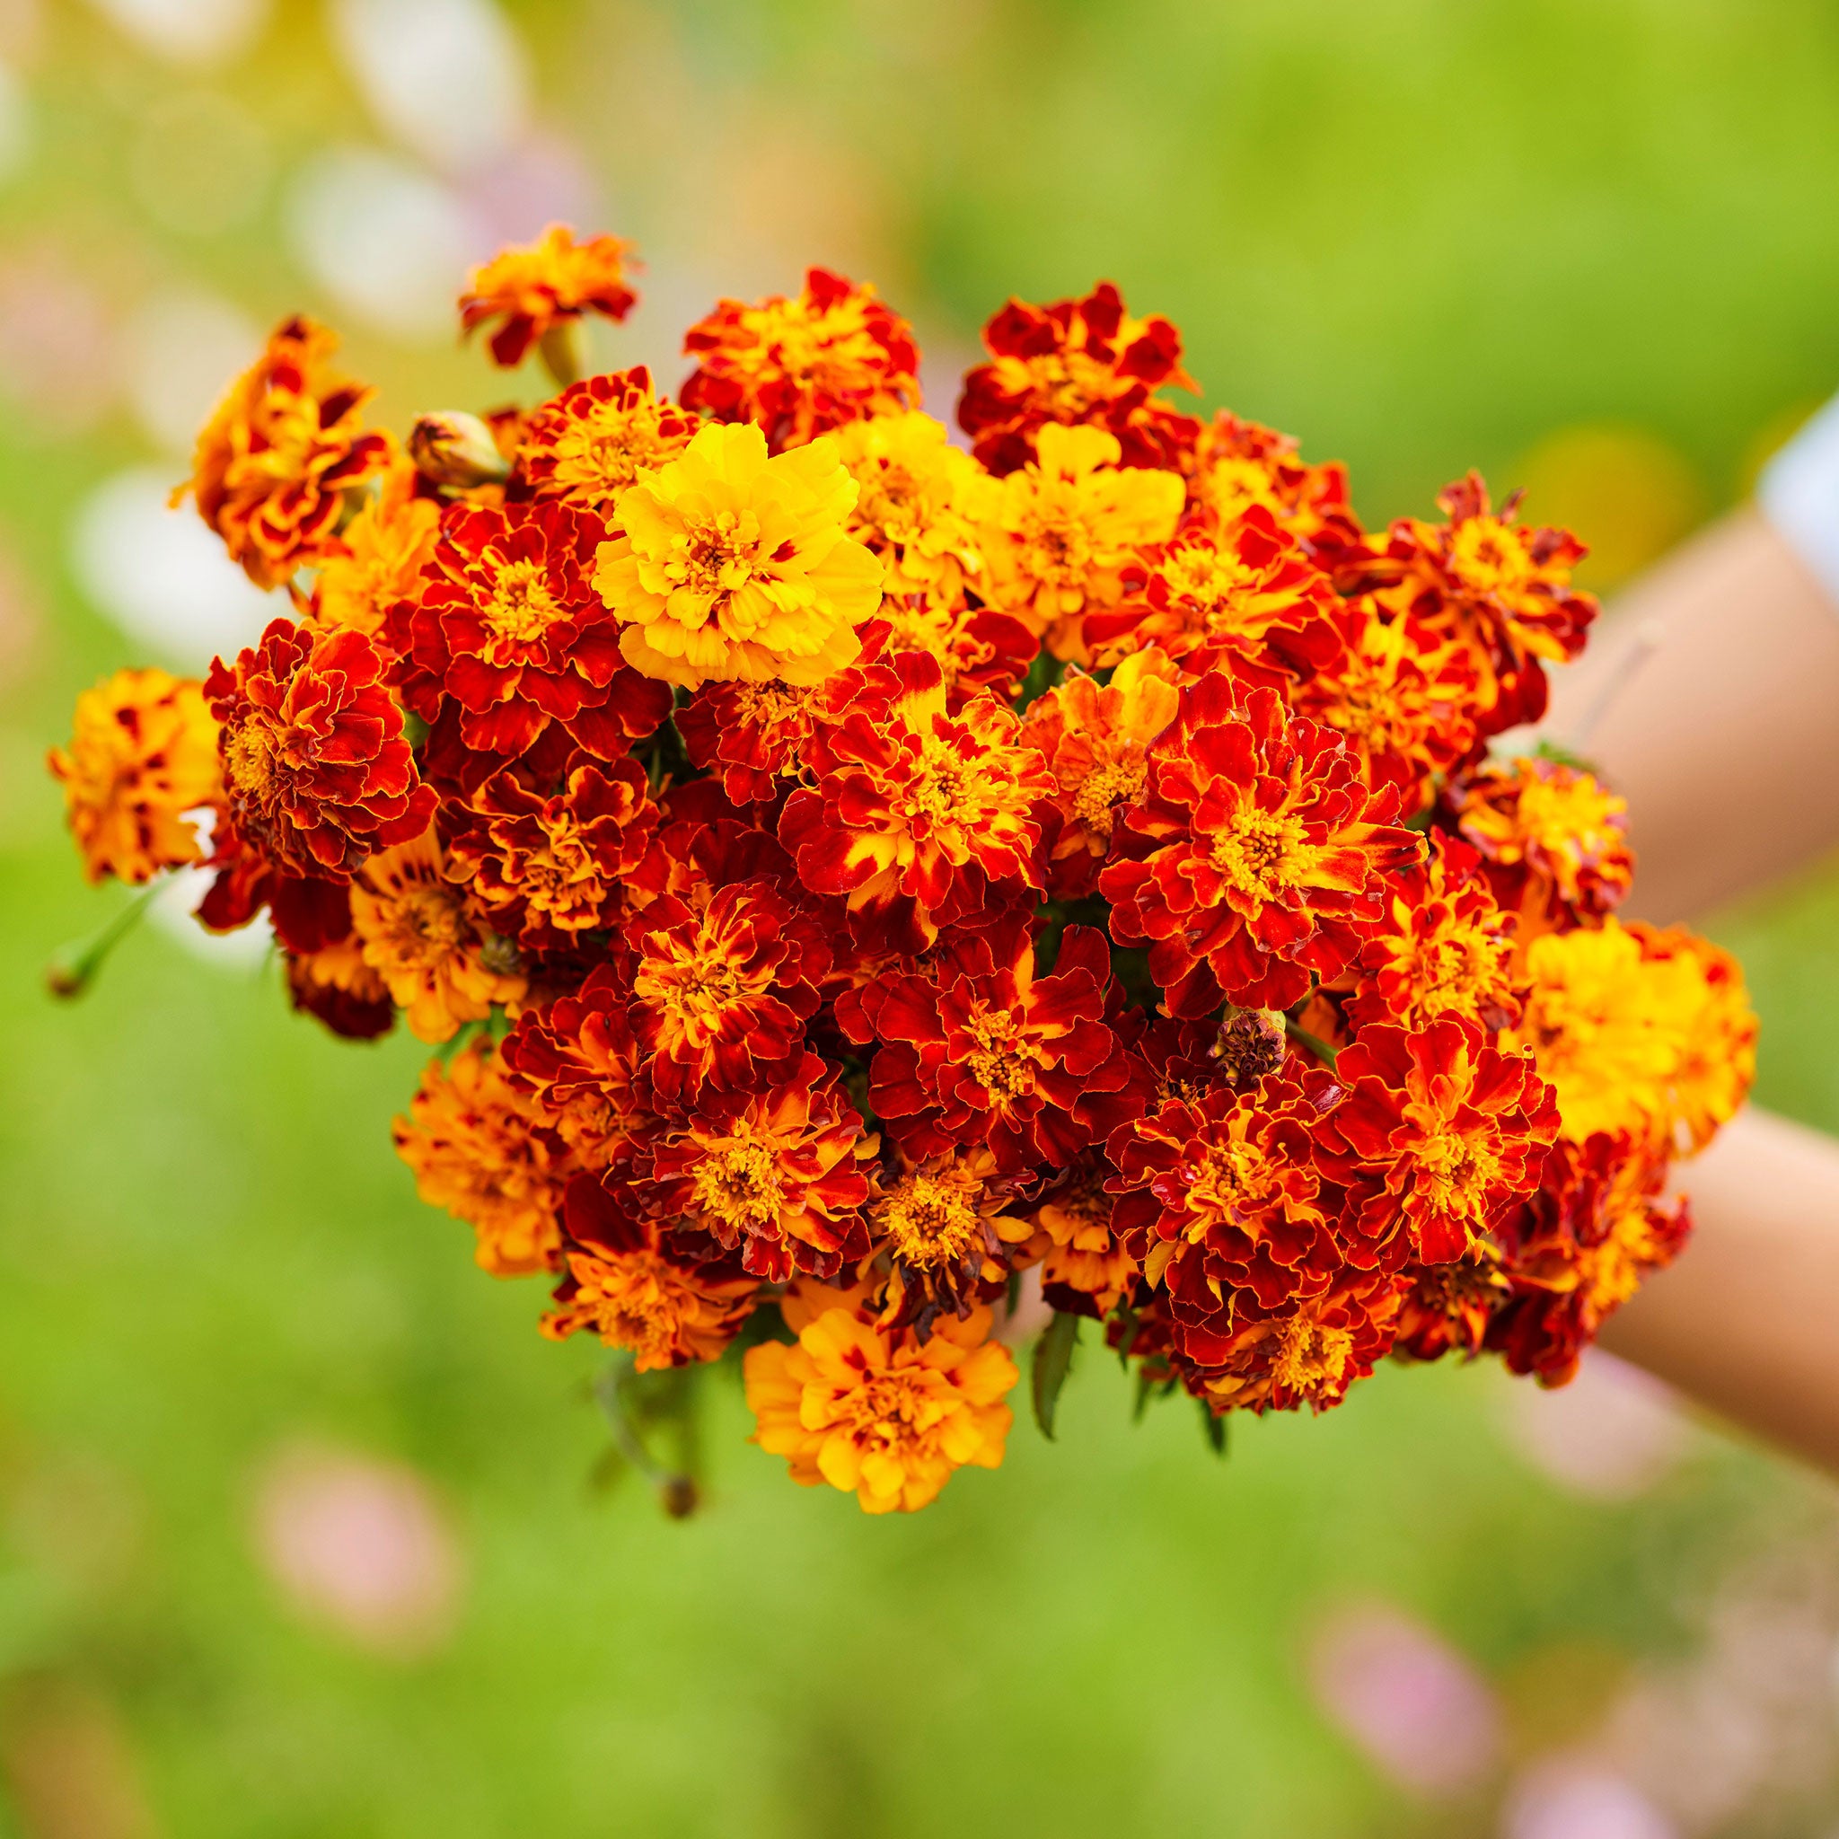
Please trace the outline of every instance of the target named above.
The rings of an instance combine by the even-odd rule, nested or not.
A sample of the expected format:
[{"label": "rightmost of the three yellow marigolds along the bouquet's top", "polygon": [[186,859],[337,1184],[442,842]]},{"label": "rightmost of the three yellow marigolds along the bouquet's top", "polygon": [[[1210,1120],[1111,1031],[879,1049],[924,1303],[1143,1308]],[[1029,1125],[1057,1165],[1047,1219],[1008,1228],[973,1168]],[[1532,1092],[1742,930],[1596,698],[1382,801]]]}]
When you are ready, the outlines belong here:
[{"label": "rightmost of the three yellow marigolds along the bouquet's top", "polygon": [[991,605],[1046,636],[1056,658],[1085,662],[1083,616],[1122,600],[1120,572],[1140,543],[1175,533],[1179,473],[1120,467],[1114,434],[1046,423],[1039,462],[997,485],[984,528]]}]

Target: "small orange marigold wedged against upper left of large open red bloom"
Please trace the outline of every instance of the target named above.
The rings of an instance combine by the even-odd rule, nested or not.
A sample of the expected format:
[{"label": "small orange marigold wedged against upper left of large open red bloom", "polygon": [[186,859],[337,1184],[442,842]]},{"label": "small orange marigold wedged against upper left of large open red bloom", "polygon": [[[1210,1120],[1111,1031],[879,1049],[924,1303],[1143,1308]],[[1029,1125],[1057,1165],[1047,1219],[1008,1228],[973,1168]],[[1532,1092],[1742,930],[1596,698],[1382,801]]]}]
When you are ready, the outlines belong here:
[{"label": "small orange marigold wedged against upper left of large open red bloom", "polygon": [[1057,787],[1059,835],[1048,874],[1052,892],[1092,892],[1118,817],[1149,785],[1149,745],[1181,706],[1177,671],[1157,649],[1137,651],[1100,686],[1083,671],[1030,702],[1021,743],[1048,763]]}]

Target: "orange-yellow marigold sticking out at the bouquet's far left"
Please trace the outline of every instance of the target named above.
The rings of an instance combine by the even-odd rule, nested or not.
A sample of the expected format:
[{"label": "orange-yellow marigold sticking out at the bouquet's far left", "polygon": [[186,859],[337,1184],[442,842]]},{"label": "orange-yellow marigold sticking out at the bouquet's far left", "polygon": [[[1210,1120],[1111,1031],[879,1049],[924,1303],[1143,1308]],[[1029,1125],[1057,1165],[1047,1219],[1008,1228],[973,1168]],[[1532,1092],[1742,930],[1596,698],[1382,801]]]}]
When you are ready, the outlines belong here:
[{"label": "orange-yellow marigold sticking out at the bouquet's far left", "polygon": [[64,783],[90,881],[149,881],[204,853],[184,813],[223,802],[217,723],[200,684],[116,671],[77,697],[70,747],[46,758]]}]

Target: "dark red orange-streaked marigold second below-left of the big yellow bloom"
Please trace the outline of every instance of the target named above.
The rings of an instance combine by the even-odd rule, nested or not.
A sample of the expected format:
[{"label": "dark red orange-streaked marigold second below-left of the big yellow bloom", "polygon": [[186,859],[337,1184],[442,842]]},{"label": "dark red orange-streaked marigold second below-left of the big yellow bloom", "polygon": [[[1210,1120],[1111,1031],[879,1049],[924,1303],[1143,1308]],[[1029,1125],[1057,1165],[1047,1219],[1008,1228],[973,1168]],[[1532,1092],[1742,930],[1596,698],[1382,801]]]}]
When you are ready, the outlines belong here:
[{"label": "dark red orange-streaked marigold second below-left of the big yellow bloom", "polygon": [[631,758],[601,765],[576,756],[546,794],[504,769],[471,804],[441,811],[449,874],[495,932],[531,949],[611,921],[657,822],[645,769]]}]

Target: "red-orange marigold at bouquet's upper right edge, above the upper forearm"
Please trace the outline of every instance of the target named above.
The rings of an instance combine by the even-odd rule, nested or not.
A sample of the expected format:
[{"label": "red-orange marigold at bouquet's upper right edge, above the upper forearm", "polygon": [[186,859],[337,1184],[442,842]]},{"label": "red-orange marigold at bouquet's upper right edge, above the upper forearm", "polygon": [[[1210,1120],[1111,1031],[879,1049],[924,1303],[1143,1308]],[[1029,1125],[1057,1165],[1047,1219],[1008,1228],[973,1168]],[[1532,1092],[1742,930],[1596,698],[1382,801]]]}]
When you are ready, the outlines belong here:
[{"label": "red-orange marigold at bouquet's upper right edge, above the upper forearm", "polygon": [[1571,587],[1583,544],[1569,530],[1517,524],[1517,493],[1493,511],[1479,473],[1436,502],[1447,524],[1399,519],[1392,526],[1381,572],[1396,585],[1381,598],[1475,653],[1484,734],[1537,721],[1545,662],[1574,658],[1596,618],[1596,601]]}]

